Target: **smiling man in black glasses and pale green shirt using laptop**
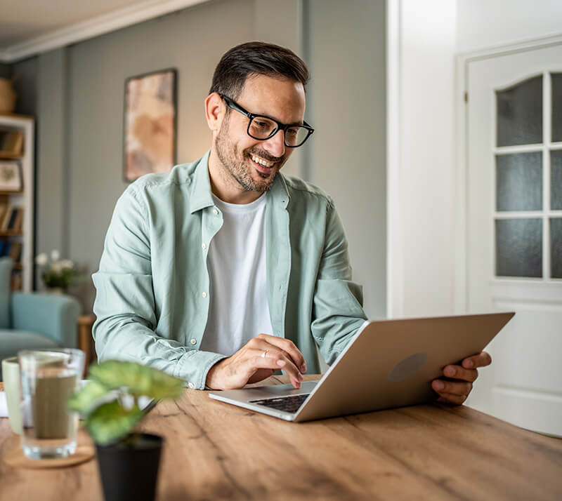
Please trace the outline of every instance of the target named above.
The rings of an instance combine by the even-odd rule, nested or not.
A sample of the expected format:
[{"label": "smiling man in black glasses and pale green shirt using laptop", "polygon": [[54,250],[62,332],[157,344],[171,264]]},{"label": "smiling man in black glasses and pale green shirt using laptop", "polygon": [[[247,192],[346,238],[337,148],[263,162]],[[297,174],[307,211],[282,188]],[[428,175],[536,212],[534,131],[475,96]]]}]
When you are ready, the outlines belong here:
[{"label": "smiling man in black glasses and pale green shirt using laptop", "polygon": [[[294,387],[332,363],[365,323],[344,230],[320,189],[279,173],[313,132],[306,65],[258,42],[228,51],[205,100],[211,149],[145,175],[117,201],[93,327],[100,360],[233,389],[285,370]],[[485,353],[447,366],[440,398],[462,403]]]}]

